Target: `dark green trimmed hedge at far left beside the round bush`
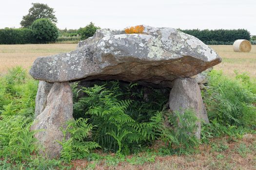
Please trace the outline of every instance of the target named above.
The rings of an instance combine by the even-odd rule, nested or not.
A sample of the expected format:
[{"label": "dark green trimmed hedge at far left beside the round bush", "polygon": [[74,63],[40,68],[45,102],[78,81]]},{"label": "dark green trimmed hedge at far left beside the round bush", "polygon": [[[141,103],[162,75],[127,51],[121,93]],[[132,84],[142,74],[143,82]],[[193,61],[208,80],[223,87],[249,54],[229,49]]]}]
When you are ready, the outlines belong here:
[{"label": "dark green trimmed hedge at far left beside the round bush", "polygon": [[35,42],[34,32],[31,29],[0,29],[0,44],[33,44]]}]

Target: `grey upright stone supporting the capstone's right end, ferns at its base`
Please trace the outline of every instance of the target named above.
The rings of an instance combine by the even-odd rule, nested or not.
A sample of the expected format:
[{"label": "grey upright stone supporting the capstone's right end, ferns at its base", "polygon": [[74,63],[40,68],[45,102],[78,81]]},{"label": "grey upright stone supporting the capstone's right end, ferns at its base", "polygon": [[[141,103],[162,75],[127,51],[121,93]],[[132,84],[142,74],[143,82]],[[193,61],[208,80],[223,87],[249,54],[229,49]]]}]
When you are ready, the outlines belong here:
[{"label": "grey upright stone supporting the capstone's right end, ferns at its base", "polygon": [[[179,78],[174,81],[170,92],[169,107],[171,111],[184,113],[186,109],[193,109],[199,119],[209,123],[199,85],[195,79]],[[200,138],[201,124],[198,122],[196,136]]]}]

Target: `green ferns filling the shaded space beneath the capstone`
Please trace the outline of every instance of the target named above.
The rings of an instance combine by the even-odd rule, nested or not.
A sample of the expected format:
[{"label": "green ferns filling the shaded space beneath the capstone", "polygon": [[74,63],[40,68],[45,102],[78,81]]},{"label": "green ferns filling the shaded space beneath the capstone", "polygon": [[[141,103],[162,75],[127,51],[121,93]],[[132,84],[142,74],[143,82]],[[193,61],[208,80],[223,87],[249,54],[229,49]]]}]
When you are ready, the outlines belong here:
[{"label": "green ferns filling the shaded space beneath the capstone", "polygon": [[[170,153],[187,153],[198,146],[195,113],[170,114],[166,109],[169,89],[120,85],[118,81],[99,84],[74,88],[84,96],[74,94],[74,115],[88,119],[92,131],[87,140],[97,142],[103,151],[134,153],[157,139],[166,142]],[[169,115],[168,127],[163,113]]]}]

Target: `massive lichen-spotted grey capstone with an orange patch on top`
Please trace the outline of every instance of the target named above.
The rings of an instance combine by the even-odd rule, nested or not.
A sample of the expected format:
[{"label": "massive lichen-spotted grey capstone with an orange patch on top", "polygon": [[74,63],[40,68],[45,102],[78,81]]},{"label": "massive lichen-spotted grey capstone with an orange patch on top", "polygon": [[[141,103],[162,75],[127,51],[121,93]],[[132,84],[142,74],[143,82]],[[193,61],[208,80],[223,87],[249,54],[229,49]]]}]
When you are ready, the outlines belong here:
[{"label": "massive lichen-spotted grey capstone with an orange patch on top", "polygon": [[217,53],[194,36],[141,25],[98,30],[75,51],[37,58],[30,74],[47,82],[116,79],[170,86],[220,62]]}]

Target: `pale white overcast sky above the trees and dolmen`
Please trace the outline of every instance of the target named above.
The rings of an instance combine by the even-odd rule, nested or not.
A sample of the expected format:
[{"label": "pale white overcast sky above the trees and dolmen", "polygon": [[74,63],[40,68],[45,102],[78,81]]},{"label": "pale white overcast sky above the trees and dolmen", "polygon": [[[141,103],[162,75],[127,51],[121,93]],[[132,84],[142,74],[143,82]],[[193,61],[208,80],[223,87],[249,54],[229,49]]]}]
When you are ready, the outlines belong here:
[{"label": "pale white overcast sky above the trees and dolmen", "polygon": [[0,0],[0,28],[20,27],[32,2],[56,11],[60,29],[94,22],[101,28],[134,25],[181,29],[238,29],[256,35],[256,0]]}]

